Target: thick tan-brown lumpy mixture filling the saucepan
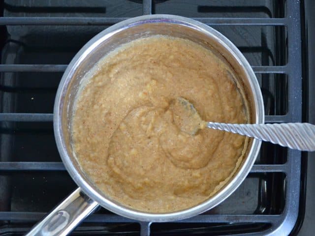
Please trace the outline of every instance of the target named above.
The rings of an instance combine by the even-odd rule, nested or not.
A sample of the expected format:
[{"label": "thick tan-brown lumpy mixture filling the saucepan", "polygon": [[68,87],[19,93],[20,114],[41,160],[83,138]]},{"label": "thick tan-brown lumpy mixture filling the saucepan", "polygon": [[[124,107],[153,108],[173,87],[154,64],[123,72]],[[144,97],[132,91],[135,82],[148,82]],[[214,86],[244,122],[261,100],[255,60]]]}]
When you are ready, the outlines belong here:
[{"label": "thick tan-brown lumpy mixture filling the saucepan", "polygon": [[73,147],[110,198],[143,211],[175,211],[205,201],[233,176],[248,139],[208,128],[183,132],[173,109],[178,97],[203,120],[248,121],[229,68],[189,40],[135,40],[87,78],[73,114]]}]

